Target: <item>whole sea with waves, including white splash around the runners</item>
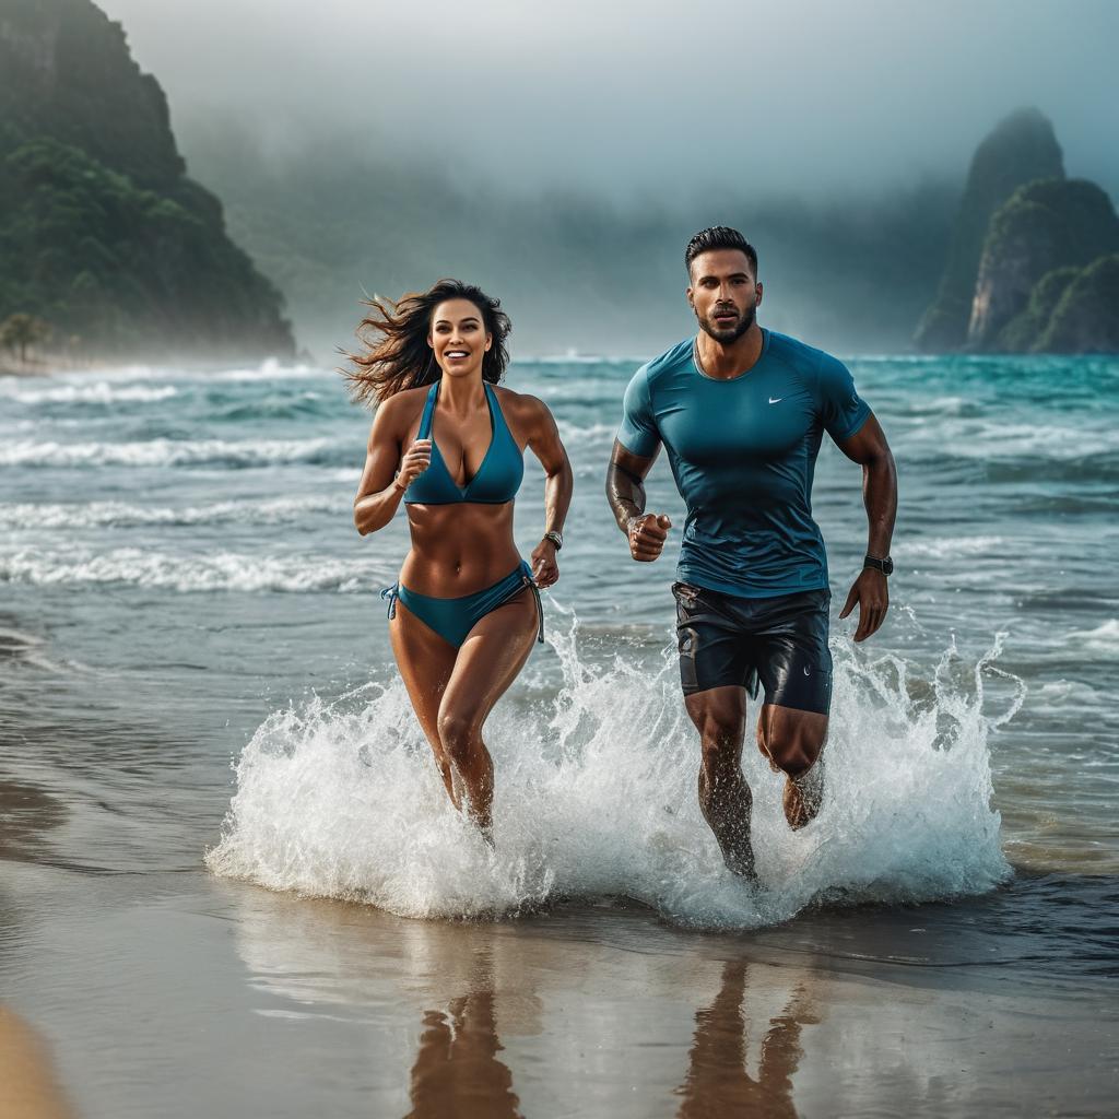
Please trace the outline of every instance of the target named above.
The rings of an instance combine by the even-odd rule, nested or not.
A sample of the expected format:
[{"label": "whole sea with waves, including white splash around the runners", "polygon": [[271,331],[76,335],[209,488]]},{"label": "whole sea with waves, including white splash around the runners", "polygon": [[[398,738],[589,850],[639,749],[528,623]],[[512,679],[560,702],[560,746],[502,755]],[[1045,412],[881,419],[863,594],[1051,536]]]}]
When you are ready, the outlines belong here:
[{"label": "whole sea with waves, including white splash around the runners", "polygon": [[[125,755],[145,742],[158,770],[170,741],[191,773],[164,793],[190,835],[177,858],[407,915],[617,894],[686,924],[754,927],[819,900],[981,892],[1015,867],[1112,872],[1119,363],[848,361],[899,466],[892,610],[858,647],[854,619],[836,617],[866,518],[858,467],[825,441],[829,789],[819,820],[790,834],[747,735],[756,896],[721,868],[696,803],[668,592],[679,499],[659,462],[650,508],[676,527],[642,565],[602,496],[634,360],[509,372],[553,408],[575,500],[548,645],[488,726],[495,853],[446,802],[393,665],[377,591],[406,528],[402,515],[365,539],[352,529],[369,417],[328,369],[0,380],[0,717],[27,741],[49,708],[55,732],[10,764],[74,764],[59,742],[86,740],[96,712]],[[542,527],[529,461],[526,554]],[[119,779],[106,760],[94,782]]]}]

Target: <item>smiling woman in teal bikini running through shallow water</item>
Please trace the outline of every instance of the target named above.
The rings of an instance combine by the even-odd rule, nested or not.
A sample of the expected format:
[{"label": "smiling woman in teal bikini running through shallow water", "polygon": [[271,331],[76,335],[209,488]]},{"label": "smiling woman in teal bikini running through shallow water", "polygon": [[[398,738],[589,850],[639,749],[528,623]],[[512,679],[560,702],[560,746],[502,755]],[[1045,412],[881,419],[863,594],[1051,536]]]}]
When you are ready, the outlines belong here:
[{"label": "smiling woman in teal bikini running through shallow water", "polygon": [[[407,509],[412,551],[385,592],[393,652],[448,796],[492,843],[482,725],[544,640],[537,587],[560,577],[571,464],[543,402],[493,387],[509,360],[498,300],[441,280],[368,305],[347,374],[354,401],[377,405],[354,523],[365,536]],[[526,446],[547,474],[530,567],[513,540]]]}]

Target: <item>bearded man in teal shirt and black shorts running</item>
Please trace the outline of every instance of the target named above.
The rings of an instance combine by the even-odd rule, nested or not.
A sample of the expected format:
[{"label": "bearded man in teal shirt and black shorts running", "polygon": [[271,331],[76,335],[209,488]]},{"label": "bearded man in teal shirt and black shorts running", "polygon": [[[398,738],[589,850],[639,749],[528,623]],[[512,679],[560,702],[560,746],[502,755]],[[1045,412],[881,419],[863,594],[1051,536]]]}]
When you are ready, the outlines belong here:
[{"label": "bearded man in teal shirt and black shorts running", "polygon": [[834,357],[758,325],[758,254],[736,229],[697,233],[685,253],[695,338],[643,365],[626,389],[606,496],[630,555],[660,555],[668,517],[646,513],[660,445],[687,505],[677,566],[684,702],[699,732],[699,807],[736,874],[756,880],[752,797],[740,762],[746,690],[765,699],[758,749],[784,772],[784,816],[820,809],[831,700],[827,557],[812,520],[822,433],[863,467],[869,520],[864,567],[840,612],[858,604],[855,640],[882,624],[897,505],[885,435]]}]

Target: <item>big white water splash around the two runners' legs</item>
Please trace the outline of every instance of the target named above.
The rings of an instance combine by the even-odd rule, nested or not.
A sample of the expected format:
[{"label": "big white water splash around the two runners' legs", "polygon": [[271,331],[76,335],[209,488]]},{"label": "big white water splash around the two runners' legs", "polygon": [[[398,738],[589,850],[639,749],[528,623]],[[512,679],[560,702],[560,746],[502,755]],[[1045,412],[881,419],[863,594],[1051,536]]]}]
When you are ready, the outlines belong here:
[{"label": "big white water splash around the two runners' legs", "polygon": [[[496,852],[451,807],[403,685],[274,713],[236,763],[219,875],[415,918],[516,914],[560,897],[628,896],[679,924],[755,928],[812,902],[918,902],[1005,881],[990,807],[988,737],[1018,711],[984,713],[1002,638],[963,666],[949,649],[931,679],[845,639],[836,658],[827,793],[789,830],[783,777],[747,739],[762,888],[724,869],[696,800],[698,743],[674,658],[650,673],[627,653],[590,666],[577,628],[549,640],[563,687],[516,695],[487,727],[496,764]],[[966,671],[961,671],[966,668]],[[918,698],[912,698],[912,695]],[[755,708],[754,708],[755,709]]]}]

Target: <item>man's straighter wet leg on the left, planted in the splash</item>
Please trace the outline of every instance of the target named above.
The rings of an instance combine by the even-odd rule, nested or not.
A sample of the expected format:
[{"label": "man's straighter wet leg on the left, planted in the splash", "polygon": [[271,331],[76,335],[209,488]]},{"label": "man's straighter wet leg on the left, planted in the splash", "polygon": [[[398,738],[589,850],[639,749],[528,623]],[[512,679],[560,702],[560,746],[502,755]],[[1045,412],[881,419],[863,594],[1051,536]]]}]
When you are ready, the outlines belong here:
[{"label": "man's straighter wet leg on the left, planted in the splash", "polygon": [[746,689],[717,687],[685,696],[684,705],[699,732],[699,808],[715,833],[723,861],[735,874],[756,881],[750,841],[753,798],[742,775],[742,740]]}]

